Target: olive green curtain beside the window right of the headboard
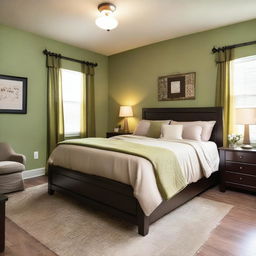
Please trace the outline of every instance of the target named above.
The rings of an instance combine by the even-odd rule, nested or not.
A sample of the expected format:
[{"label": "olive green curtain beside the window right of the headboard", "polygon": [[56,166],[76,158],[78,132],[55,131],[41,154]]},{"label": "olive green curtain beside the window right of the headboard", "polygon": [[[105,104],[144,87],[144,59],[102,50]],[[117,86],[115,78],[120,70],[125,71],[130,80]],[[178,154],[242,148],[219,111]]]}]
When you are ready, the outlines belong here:
[{"label": "olive green curtain beside the window right of the headboard", "polygon": [[223,145],[227,146],[228,134],[233,132],[234,94],[231,77],[231,61],[234,50],[226,49],[216,53],[217,83],[216,106],[223,107]]}]

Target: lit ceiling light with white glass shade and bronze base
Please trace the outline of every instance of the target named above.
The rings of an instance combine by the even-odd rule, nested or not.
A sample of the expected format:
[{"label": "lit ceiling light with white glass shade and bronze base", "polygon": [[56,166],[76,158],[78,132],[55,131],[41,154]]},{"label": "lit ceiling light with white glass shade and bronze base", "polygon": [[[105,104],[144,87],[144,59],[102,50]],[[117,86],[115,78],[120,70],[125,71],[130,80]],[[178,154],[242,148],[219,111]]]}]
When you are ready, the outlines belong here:
[{"label": "lit ceiling light with white glass shade and bronze base", "polygon": [[113,17],[116,6],[111,3],[102,3],[98,5],[101,16],[96,19],[95,23],[98,27],[110,31],[117,27],[118,21]]}]

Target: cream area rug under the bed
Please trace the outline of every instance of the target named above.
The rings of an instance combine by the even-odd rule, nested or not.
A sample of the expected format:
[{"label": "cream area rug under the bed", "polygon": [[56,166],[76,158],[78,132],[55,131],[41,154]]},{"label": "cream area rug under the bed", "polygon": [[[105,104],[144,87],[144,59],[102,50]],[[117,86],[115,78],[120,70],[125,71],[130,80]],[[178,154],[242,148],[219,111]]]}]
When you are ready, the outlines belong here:
[{"label": "cream area rug under the bed", "polygon": [[192,256],[231,208],[196,197],[142,237],[116,217],[58,193],[49,196],[45,184],[10,195],[7,217],[60,256]]}]

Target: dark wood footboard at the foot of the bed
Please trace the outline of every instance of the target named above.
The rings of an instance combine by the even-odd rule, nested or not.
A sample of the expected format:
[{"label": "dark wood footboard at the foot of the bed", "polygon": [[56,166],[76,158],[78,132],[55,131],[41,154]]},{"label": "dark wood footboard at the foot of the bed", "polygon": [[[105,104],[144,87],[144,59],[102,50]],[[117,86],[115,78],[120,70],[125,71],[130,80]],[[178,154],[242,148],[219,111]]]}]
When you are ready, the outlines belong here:
[{"label": "dark wood footboard at the foot of the bed", "polygon": [[148,234],[149,218],[127,184],[50,165],[48,194],[55,191],[138,225],[140,235]]}]

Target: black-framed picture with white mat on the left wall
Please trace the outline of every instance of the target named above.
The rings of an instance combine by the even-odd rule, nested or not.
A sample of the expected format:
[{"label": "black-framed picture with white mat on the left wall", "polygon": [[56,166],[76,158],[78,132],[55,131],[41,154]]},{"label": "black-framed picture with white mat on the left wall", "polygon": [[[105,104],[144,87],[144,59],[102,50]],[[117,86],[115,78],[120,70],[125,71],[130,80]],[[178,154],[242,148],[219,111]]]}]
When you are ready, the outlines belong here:
[{"label": "black-framed picture with white mat on the left wall", "polygon": [[0,113],[27,113],[27,78],[0,75]]}]

